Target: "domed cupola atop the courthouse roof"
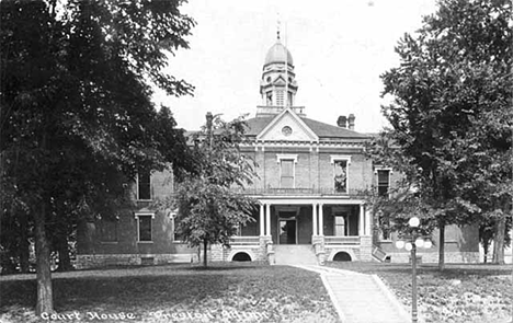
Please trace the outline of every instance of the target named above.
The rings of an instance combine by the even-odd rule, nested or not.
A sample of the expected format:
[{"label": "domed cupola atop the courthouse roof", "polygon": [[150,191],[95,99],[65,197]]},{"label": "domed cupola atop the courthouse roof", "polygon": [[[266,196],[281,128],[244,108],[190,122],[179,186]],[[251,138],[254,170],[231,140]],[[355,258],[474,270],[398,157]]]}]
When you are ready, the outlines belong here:
[{"label": "domed cupola atop the courthouse roof", "polygon": [[264,106],[274,107],[276,112],[294,105],[297,92],[294,60],[287,47],[280,39],[267,50],[263,65],[260,94]]}]

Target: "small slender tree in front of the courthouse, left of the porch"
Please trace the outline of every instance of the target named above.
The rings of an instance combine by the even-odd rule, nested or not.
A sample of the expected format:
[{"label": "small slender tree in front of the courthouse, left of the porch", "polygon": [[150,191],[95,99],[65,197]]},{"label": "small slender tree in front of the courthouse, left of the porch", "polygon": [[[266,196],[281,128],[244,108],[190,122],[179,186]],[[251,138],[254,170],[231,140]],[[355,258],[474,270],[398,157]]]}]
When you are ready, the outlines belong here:
[{"label": "small slender tree in front of the courthouse, left of the porch", "polygon": [[193,138],[196,175],[162,204],[178,207],[178,233],[191,246],[203,246],[205,267],[208,244],[229,245],[240,226],[254,220],[255,201],[237,192],[256,176],[253,160],[239,148],[244,125],[241,118],[225,123],[208,115],[207,126]]}]

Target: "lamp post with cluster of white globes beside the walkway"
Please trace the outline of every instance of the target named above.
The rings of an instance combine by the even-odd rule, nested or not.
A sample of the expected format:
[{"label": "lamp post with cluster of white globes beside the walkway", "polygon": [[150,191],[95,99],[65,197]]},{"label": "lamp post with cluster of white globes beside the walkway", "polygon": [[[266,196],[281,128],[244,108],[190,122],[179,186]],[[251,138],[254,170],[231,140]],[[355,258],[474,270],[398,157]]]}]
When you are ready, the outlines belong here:
[{"label": "lamp post with cluster of white globes beside the walkway", "polygon": [[432,246],[431,240],[424,240],[417,231],[420,226],[420,219],[412,217],[408,221],[408,226],[411,228],[409,235],[402,235],[401,239],[396,241],[397,249],[406,249],[411,252],[411,322],[418,322],[417,311],[417,247],[430,249]]}]

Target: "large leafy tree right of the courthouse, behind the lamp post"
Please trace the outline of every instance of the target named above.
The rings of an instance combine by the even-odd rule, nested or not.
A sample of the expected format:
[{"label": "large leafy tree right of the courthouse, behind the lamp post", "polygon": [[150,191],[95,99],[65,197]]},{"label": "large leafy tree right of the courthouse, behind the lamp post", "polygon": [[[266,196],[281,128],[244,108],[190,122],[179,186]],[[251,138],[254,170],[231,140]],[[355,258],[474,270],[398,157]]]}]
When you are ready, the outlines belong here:
[{"label": "large leafy tree right of the courthouse, behind the lamp post", "polygon": [[408,163],[388,161],[410,170],[441,231],[441,269],[446,224],[511,212],[511,26],[510,1],[442,0],[381,76],[387,137]]}]

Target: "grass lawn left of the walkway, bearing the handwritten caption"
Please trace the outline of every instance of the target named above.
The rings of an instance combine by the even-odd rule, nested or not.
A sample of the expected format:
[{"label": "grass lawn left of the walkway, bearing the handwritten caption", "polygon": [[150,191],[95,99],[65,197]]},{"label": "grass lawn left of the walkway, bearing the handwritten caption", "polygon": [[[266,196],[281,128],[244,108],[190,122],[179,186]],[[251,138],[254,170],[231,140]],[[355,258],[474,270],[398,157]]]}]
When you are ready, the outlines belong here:
[{"label": "grass lawn left of the walkway, bearing the handwritten caption", "polygon": [[[67,315],[53,322],[339,322],[319,275],[285,266],[77,270],[53,281],[55,309]],[[35,288],[34,275],[0,277],[0,322],[44,321]]]}]

